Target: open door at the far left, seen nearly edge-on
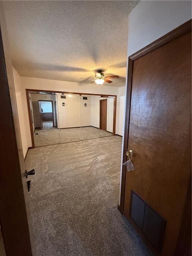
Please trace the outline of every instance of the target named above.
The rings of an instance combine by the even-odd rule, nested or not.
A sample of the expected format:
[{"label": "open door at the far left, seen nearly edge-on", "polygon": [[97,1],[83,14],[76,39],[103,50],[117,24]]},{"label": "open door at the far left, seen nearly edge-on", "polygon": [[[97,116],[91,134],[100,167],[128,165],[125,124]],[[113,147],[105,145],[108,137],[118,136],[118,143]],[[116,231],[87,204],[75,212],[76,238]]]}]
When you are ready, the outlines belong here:
[{"label": "open door at the far left, seen nearly edge-on", "polygon": [[[1,24],[2,25],[2,24]],[[0,32],[0,224],[6,255],[35,256],[27,179],[6,31]],[[8,77],[7,77],[8,74]]]}]

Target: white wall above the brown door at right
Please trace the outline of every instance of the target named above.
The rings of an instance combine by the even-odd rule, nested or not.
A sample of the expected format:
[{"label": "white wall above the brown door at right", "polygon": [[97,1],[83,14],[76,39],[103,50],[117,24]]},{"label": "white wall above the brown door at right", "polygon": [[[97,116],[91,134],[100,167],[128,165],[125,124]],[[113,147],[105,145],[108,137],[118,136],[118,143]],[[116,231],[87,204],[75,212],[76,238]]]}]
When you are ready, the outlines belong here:
[{"label": "white wall above the brown door at right", "polygon": [[142,49],[190,19],[191,1],[139,2],[129,15],[127,56]]}]

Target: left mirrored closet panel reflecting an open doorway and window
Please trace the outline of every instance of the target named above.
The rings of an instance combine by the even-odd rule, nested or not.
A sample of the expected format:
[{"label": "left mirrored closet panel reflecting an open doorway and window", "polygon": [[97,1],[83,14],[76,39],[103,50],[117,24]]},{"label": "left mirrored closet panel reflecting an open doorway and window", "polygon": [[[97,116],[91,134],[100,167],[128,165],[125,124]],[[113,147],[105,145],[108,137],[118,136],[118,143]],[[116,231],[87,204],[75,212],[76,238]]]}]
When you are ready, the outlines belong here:
[{"label": "left mirrored closet panel reflecting an open doorway and window", "polygon": [[35,147],[60,143],[57,129],[56,95],[29,93]]}]

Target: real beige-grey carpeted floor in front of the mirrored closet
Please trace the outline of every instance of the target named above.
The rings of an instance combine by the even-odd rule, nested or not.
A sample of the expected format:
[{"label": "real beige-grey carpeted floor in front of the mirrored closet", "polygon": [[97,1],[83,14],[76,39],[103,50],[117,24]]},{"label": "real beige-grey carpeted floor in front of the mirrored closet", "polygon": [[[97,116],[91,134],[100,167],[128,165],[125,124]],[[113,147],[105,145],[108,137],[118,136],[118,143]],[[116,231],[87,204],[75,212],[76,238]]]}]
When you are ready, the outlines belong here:
[{"label": "real beige-grey carpeted floor in front of the mirrored closet", "polygon": [[151,256],[117,209],[119,136],[30,149],[37,256]]}]

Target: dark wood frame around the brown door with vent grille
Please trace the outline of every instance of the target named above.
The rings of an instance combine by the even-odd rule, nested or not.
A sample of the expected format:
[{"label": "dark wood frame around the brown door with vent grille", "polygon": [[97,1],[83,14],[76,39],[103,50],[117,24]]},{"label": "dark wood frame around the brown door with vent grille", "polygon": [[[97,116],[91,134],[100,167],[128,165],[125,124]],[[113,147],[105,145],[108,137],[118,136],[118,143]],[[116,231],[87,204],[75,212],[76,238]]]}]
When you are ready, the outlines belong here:
[{"label": "dark wood frame around the brown door with vent grille", "polygon": [[[127,70],[127,89],[126,89],[126,106],[125,106],[125,128],[124,128],[124,136],[123,136],[123,155],[122,155],[122,163],[127,161],[126,152],[128,151],[128,139],[129,139],[129,122],[130,122],[130,108],[131,108],[131,93],[132,93],[132,80],[133,80],[133,67],[134,61],[143,57],[144,55],[166,45],[173,40],[191,32],[191,20],[185,22],[181,26],[175,28],[171,32],[167,33],[166,35],[160,37],[159,39],[155,40],[151,44],[147,45],[146,47],[142,48],[141,50],[137,51],[136,53],[132,54],[128,58],[128,70]],[[122,173],[121,173],[121,190],[120,190],[120,204],[118,205],[119,211],[123,214],[124,213],[124,199],[125,199],[125,181],[126,181],[126,166],[122,165]],[[191,188],[191,183],[189,182],[189,186]],[[188,200],[188,194],[186,197],[186,202]],[[190,211],[190,204],[185,207],[183,212],[184,215],[188,215]],[[185,218],[183,218],[184,221]],[[186,220],[187,221],[187,220]],[[180,230],[184,227],[185,224],[182,222]],[[183,231],[184,232],[184,231]],[[190,238],[188,238],[190,239]],[[180,246],[180,241],[178,240],[177,248]],[[177,249],[176,249],[177,251]],[[180,254],[181,255],[181,254]]]}]

